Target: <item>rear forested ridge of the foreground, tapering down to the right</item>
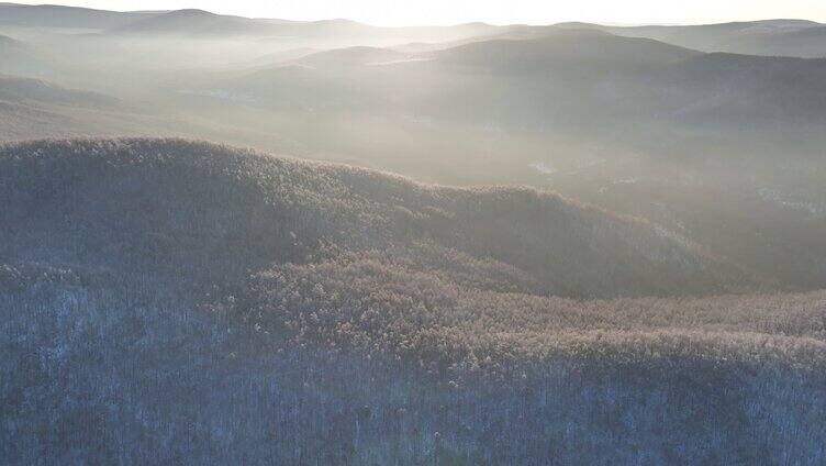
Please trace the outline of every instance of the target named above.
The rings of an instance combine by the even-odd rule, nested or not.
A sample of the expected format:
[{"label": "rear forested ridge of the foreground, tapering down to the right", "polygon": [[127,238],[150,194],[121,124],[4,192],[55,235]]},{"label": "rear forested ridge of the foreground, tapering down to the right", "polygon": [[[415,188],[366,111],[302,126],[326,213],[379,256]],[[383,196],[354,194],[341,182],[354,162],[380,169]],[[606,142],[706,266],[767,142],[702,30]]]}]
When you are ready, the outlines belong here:
[{"label": "rear forested ridge of the foreground, tapering down to the right", "polygon": [[[0,149],[0,257],[224,280],[320,244],[445,248],[492,260],[522,291],[713,292],[749,284],[668,232],[529,189],[454,189],[183,141]],[[71,219],[69,223],[56,219]]]}]

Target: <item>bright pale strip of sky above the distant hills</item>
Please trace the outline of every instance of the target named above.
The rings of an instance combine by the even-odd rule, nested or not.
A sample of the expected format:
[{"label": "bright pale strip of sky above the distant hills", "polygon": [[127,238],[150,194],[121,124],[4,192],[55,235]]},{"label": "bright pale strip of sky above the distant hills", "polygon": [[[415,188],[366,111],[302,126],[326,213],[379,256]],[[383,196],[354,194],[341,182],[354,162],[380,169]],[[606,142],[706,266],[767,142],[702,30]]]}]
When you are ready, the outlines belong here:
[{"label": "bright pale strip of sky above the distant hills", "polygon": [[[14,1],[14,0],[10,0]],[[42,3],[22,0],[20,3]],[[346,18],[376,25],[548,24],[588,21],[615,24],[697,24],[770,18],[826,22],[826,0],[56,0],[104,10],[199,8],[252,18]]]}]

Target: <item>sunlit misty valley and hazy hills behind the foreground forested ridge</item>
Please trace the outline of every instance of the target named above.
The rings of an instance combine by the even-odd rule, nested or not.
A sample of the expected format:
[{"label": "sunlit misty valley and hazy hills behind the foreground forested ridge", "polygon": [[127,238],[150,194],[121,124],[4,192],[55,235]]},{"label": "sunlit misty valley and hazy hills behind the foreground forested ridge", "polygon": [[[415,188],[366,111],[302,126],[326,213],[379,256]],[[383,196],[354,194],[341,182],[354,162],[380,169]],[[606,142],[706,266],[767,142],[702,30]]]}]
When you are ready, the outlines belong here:
[{"label": "sunlit misty valley and hazy hills behind the foreground forested ridge", "polygon": [[[167,22],[180,34],[149,31]],[[242,36],[212,22],[303,32]],[[25,73],[31,58],[2,62],[7,75],[48,82],[25,102],[5,97],[4,138],[174,135],[432,182],[549,188],[645,218],[767,282],[826,284],[821,59],[706,54],[587,24],[381,29],[185,10],[97,34],[42,27],[10,29],[10,44],[71,66],[44,78]],[[760,27],[817,26],[651,30],[722,41]],[[464,38],[439,42],[447,31]],[[433,46],[403,46],[420,33]],[[118,103],[57,104],[58,88]],[[694,202],[712,198],[723,201]]]}]

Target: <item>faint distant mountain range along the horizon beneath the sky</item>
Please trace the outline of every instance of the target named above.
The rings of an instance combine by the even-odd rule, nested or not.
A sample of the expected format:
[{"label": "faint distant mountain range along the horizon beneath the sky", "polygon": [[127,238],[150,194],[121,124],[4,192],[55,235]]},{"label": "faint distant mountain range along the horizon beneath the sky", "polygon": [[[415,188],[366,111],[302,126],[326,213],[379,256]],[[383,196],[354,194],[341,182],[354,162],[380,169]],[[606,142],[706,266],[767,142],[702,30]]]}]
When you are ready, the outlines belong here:
[{"label": "faint distant mountain range along the horizon beneath the sky", "polygon": [[[328,37],[361,41],[434,43],[472,37],[524,36],[544,26],[468,23],[455,26],[376,27],[347,20],[313,22],[214,14],[203,10],[113,12],[58,5],[0,3],[0,27],[98,30],[110,34],[165,34],[189,37],[257,36],[282,40]],[[629,37],[646,37],[702,52],[725,52],[803,58],[826,57],[826,25],[805,20],[767,20],[679,26],[606,26],[561,23],[558,27],[590,29]],[[431,43],[431,44],[426,44]]]}]

